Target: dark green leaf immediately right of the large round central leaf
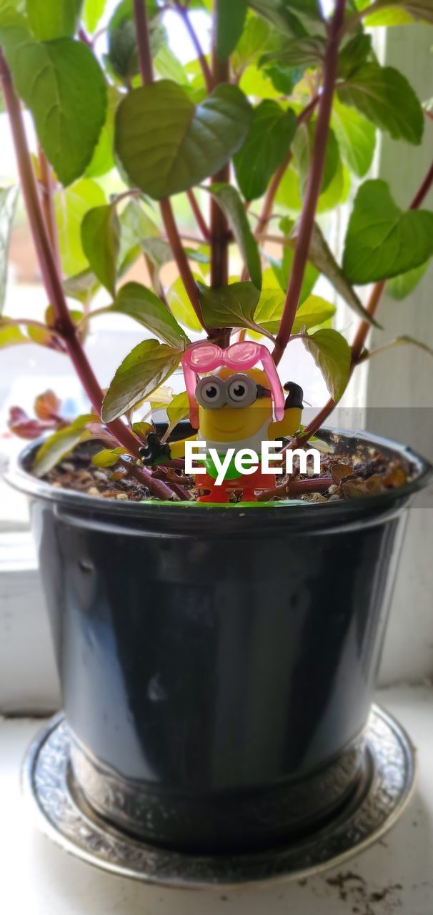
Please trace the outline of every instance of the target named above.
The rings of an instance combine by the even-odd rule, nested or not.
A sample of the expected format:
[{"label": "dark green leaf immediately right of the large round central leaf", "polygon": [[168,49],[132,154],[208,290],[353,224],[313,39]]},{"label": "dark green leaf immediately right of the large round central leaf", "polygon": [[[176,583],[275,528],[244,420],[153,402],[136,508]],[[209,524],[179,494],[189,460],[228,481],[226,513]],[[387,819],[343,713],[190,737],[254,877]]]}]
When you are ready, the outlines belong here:
[{"label": "dark green leaf immediately right of the large round central leaf", "polygon": [[265,193],[270,178],[287,156],[296,129],[296,114],[290,108],[285,111],[270,99],[254,108],[250,132],[233,159],[236,179],[246,200]]}]

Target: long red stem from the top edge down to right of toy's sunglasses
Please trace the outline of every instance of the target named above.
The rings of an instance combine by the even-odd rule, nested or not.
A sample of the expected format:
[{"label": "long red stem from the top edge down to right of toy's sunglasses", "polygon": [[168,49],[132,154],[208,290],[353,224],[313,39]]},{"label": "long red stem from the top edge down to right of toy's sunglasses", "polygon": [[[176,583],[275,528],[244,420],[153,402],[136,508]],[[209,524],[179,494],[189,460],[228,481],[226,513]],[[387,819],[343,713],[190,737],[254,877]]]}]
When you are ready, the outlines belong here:
[{"label": "long red stem from the top edge down to right of toy's sunglasses", "polygon": [[298,307],[299,294],[304,279],[305,268],[309,257],[309,243],[314,226],[317,204],[319,200],[323,168],[325,165],[326,147],[330,132],[330,114],[335,81],[337,79],[339,32],[344,21],[344,8],[346,0],[337,0],[335,13],[330,24],[328,46],[323,68],[323,92],[319,101],[319,114],[314,137],[314,148],[309,168],[309,180],[304,200],[302,214],[299,220],[298,239],[293,258],[293,268],[287,289],[286,302],[283,310],[273,358],[276,365],[286,349],[288,339],[292,332],[293,322]]}]

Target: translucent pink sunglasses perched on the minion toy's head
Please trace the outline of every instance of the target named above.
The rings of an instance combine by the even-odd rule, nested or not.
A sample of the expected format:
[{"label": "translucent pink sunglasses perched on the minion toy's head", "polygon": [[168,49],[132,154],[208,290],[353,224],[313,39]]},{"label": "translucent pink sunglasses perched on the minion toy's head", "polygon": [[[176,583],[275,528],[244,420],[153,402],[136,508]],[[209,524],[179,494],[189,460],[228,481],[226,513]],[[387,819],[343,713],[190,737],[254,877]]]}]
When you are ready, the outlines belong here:
[{"label": "translucent pink sunglasses perched on the minion toy's head", "polygon": [[207,340],[189,346],[182,357],[182,367],[189,399],[189,421],[194,429],[199,428],[199,408],[195,398],[198,373],[212,371],[222,365],[237,371],[245,371],[252,369],[257,362],[262,362],[271,388],[276,422],[280,422],[284,416],[285,396],[275,362],[265,346],[251,340],[233,343],[227,350],[222,350],[216,343],[209,343]]}]

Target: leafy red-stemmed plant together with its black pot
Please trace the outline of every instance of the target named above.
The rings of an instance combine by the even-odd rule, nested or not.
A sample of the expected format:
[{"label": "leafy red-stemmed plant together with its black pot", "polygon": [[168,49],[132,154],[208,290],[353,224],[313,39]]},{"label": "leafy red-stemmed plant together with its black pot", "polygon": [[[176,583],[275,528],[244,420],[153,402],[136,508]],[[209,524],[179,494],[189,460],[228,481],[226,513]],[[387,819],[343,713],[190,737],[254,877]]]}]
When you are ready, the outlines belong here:
[{"label": "leafy red-stemmed plant together with its black pot", "polygon": [[[250,487],[253,504],[233,483],[223,504],[203,505],[169,447],[185,425],[193,432],[184,421],[198,403],[193,391],[169,400],[165,382],[192,351],[191,331],[226,366],[233,342],[254,340],[262,355],[265,346],[277,367],[302,339],[330,400],[303,428],[289,382],[280,406],[294,411],[283,430],[293,450],[373,356],[366,342],[384,286],[406,294],[433,253],[433,213],[423,209],[433,166],[405,212],[384,181],[366,178],[377,132],[417,145],[430,115],[406,78],[377,61],[365,27],[431,24],[431,3],[336,0],[325,14],[319,0],[212,9],[123,0],[104,54],[103,3],[81,6],[6,0],[0,12],[5,109],[49,303],[38,321],[4,316],[0,345],[60,350],[90,403],[67,421],[47,392],[35,418],[11,415],[18,435],[49,432],[9,479],[31,496],[73,777],[109,823],[157,844],[263,847],[322,823],[357,784],[402,514],[428,465],[372,436],[325,431],[319,474],[295,467],[278,485]],[[196,8],[211,18],[210,55]],[[168,9],[197,50],[185,68],[168,49]],[[33,159],[23,105],[38,135]],[[106,199],[114,167],[123,186]],[[58,225],[74,188],[84,260],[75,273]],[[2,192],[5,224],[11,194]],[[194,214],[192,237],[179,230],[176,195]],[[349,198],[338,264],[317,220]],[[149,285],[123,280],[139,256]],[[169,288],[168,261],[178,271]],[[313,294],[319,274],[359,318],[352,343],[331,325],[335,307]],[[363,305],[355,287],[367,284]],[[95,309],[101,287],[106,304]],[[84,345],[101,311],[151,333],[105,393]],[[384,347],[395,342],[385,334]],[[240,415],[227,371],[215,390]],[[270,422],[270,392],[254,377]],[[212,396],[203,394],[208,406]],[[168,404],[168,430],[151,425],[148,403]]]}]

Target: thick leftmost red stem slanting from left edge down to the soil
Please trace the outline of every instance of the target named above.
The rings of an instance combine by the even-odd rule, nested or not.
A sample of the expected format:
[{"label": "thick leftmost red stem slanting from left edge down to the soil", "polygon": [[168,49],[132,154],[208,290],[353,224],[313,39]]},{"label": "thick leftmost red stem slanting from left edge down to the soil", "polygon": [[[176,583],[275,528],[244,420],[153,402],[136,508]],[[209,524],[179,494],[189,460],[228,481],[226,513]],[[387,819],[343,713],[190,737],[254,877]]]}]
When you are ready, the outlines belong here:
[{"label": "thick leftmost red stem slanting from left edge down to the soil", "polygon": [[[9,69],[6,65],[2,52],[0,51],[0,80],[2,83],[3,95],[5,99],[5,108],[9,116],[12,136],[14,139],[16,162],[20,177],[21,190],[26,204],[27,218],[32,233],[33,242],[38,255],[38,264],[42,279],[45,285],[49,302],[53,307],[56,316],[57,333],[63,339],[70,361],[77,372],[81,384],[86,392],[93,409],[98,415],[101,415],[103,404],[103,392],[100,384],[92,370],[92,366],[82,349],[81,341],[77,336],[75,325],[70,318],[70,313],[63,287],[60,281],[60,275],[57,272],[49,234],[45,225],[40,201],[38,197],[38,187],[35,173],[33,171],[31,158],[27,147],[27,137],[24,129],[21,105],[16,96],[15,88],[11,79]],[[130,454],[139,457],[140,443],[138,439],[129,431],[129,429],[120,420],[114,420],[113,423],[107,424],[110,432],[117,441],[123,445]],[[148,470],[143,471],[146,477],[146,486],[157,495],[160,492],[161,484],[157,486],[152,479]],[[165,499],[172,498],[172,492],[166,488]]]}]

